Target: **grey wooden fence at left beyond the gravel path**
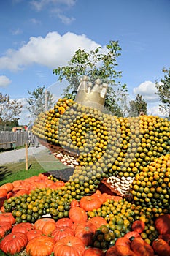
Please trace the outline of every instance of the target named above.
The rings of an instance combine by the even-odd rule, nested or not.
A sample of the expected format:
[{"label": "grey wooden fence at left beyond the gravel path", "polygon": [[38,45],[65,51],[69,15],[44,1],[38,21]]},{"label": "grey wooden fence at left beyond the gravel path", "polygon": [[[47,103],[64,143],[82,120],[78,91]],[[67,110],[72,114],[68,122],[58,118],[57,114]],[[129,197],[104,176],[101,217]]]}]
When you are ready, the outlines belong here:
[{"label": "grey wooden fence at left beyond the gravel path", "polygon": [[16,148],[24,146],[28,141],[28,131],[0,132],[0,149]]}]

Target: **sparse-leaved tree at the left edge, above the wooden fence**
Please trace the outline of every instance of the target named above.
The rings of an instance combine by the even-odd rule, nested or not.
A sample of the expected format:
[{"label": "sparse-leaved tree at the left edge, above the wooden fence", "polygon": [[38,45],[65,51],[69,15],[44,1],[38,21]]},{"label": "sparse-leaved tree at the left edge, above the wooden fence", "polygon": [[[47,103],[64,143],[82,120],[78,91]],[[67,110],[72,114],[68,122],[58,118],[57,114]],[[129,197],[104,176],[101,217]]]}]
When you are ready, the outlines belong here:
[{"label": "sparse-leaved tree at the left edge, above the wooden fence", "polygon": [[23,105],[17,99],[10,99],[9,95],[0,93],[0,117],[3,123],[7,121],[17,121]]}]

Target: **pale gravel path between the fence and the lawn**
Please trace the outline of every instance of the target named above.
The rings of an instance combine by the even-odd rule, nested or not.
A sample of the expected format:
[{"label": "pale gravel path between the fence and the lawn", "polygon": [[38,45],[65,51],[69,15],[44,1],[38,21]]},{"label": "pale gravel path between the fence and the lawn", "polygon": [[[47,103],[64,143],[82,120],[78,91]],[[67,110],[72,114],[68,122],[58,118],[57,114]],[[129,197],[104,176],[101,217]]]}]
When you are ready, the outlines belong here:
[{"label": "pale gravel path between the fence and the lawn", "polygon": [[[38,147],[29,147],[28,148],[28,157],[39,154],[41,151],[47,151],[45,146]],[[10,150],[0,153],[0,165],[4,165],[12,162],[20,162],[23,159],[26,159],[26,148]]]}]

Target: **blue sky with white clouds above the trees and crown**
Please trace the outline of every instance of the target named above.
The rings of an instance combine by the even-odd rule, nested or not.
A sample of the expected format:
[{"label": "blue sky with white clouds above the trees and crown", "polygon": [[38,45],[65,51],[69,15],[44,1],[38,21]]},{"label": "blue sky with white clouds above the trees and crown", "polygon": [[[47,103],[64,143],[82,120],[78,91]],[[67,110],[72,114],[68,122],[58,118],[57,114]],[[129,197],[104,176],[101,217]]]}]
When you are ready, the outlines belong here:
[{"label": "blue sky with white clouds above the trees and crown", "polygon": [[66,65],[79,47],[122,48],[117,59],[130,99],[142,94],[157,115],[155,80],[170,64],[169,0],[0,1],[0,92],[23,102],[20,124],[29,122],[28,90],[47,86],[60,97],[64,84],[53,69]]}]

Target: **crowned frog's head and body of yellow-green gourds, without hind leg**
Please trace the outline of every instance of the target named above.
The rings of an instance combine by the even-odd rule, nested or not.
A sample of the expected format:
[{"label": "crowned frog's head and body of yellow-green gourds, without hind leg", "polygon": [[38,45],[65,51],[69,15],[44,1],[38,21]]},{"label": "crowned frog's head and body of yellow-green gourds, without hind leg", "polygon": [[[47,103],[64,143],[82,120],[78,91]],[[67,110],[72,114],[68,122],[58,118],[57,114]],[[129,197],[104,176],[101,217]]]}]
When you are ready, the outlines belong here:
[{"label": "crowned frog's head and body of yellow-green gourds, without hind leg", "polygon": [[80,184],[85,194],[93,194],[102,181],[117,195],[129,196],[136,174],[170,152],[166,119],[117,118],[71,99],[59,99],[42,113],[33,132],[55,157],[74,167],[69,182]]}]

